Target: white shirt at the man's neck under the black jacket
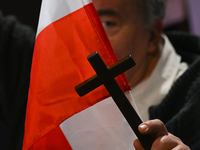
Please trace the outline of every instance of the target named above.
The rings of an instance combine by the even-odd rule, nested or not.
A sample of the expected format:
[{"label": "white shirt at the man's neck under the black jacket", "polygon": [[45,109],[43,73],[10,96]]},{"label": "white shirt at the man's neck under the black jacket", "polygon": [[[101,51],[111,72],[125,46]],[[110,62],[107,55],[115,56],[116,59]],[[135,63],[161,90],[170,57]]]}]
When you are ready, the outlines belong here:
[{"label": "white shirt at the man's neck under the black jacket", "polygon": [[162,35],[164,45],[161,57],[151,76],[131,90],[132,97],[143,121],[149,119],[150,106],[159,104],[168,93],[174,81],[188,68],[181,62],[169,39]]}]

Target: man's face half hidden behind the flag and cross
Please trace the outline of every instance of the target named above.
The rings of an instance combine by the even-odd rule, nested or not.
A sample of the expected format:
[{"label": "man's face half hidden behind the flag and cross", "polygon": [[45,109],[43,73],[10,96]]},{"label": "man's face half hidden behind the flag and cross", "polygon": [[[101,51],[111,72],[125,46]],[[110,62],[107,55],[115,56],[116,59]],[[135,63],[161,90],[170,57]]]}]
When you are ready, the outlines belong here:
[{"label": "man's face half hidden behind the flag and cross", "polygon": [[142,24],[134,0],[93,0],[118,59],[132,55],[136,66],[126,72],[131,86],[139,83],[149,67],[150,32]]}]

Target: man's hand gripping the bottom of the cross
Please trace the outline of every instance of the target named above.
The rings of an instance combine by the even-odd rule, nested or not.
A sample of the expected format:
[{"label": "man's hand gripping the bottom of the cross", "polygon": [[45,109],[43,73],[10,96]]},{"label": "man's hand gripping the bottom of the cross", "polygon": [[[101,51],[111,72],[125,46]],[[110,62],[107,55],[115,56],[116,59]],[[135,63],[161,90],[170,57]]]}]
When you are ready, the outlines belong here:
[{"label": "man's hand gripping the bottom of the cross", "polygon": [[[142,123],[138,130],[141,134],[151,134],[155,138],[151,150],[190,150],[178,137],[170,134],[158,119]],[[144,150],[138,139],[134,141],[134,147],[136,150]]]}]

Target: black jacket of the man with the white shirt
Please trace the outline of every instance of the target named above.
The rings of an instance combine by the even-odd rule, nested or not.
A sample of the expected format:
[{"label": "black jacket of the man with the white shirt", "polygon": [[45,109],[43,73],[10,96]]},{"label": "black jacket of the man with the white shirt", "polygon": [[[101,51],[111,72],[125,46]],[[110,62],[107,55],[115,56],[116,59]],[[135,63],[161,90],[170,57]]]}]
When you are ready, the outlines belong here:
[{"label": "black jacket of the man with the white shirt", "polygon": [[150,119],[163,121],[168,131],[192,150],[200,149],[200,38],[188,34],[168,34],[177,53],[189,64],[168,95],[150,107]]}]

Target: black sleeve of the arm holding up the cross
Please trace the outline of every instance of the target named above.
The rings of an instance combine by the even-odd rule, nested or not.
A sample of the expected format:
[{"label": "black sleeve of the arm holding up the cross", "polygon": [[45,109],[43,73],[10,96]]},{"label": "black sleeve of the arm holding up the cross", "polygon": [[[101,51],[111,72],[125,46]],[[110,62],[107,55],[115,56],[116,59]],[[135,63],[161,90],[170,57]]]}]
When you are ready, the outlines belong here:
[{"label": "black sleeve of the arm holding up the cross", "polygon": [[150,119],[160,119],[167,130],[192,150],[200,149],[200,60],[175,82],[167,96],[149,109]]}]

